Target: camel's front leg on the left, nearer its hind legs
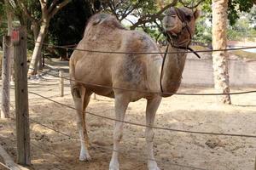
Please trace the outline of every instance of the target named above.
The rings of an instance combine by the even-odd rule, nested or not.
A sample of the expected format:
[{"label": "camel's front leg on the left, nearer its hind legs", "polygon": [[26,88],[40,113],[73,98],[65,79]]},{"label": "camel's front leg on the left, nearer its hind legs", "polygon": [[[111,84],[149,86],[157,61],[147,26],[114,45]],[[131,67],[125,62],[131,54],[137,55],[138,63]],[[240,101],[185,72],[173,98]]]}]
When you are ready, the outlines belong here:
[{"label": "camel's front leg on the left, nearer its hind legs", "polygon": [[[129,99],[125,95],[115,94],[114,109],[115,117],[119,121],[124,121],[125,111],[129,104]],[[115,127],[113,130],[113,154],[109,164],[109,170],[119,170],[119,142],[123,135],[123,122],[115,122]]]}]

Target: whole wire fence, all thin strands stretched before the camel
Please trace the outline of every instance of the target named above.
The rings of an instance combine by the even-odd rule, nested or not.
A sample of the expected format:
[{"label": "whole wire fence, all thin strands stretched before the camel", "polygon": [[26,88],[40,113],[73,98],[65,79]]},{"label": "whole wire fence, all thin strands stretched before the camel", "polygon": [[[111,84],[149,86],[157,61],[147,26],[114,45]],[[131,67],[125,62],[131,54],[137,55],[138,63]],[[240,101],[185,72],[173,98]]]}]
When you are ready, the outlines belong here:
[{"label": "whole wire fence, all thin strands stretched before the camel", "polygon": [[[36,42],[38,43],[38,42]],[[50,45],[48,43],[44,43],[44,45]],[[165,54],[165,53],[161,53],[161,52],[155,52],[155,53],[145,53],[145,52],[111,52],[111,51],[97,51],[97,50],[87,50],[87,49],[81,49],[81,48],[69,48],[69,47],[63,47],[63,46],[53,46],[54,48],[66,48],[66,49],[73,49],[73,50],[79,50],[79,51],[85,51],[85,52],[89,52],[89,53],[101,53],[101,54]],[[196,53],[209,53],[209,52],[218,52],[218,51],[231,51],[231,50],[241,50],[241,49],[249,49],[249,48],[256,48],[256,47],[246,47],[246,48],[231,48],[231,49],[213,49],[213,50],[198,50],[198,51],[195,51]],[[187,52],[187,51],[177,51],[177,52],[169,52],[168,54],[180,54],[180,53],[193,53],[193,52]],[[31,69],[31,68],[30,68]],[[43,72],[43,71],[42,71]],[[50,73],[46,73],[50,76],[53,76],[53,77],[59,77],[59,76],[56,76],[54,74],[50,74]],[[63,79],[66,79],[68,81],[71,81],[71,82],[79,82],[79,83],[82,83],[84,85],[90,85],[90,86],[95,86],[95,87],[98,87],[98,88],[111,88],[111,89],[116,89],[116,90],[125,90],[125,91],[130,91],[130,92],[139,92],[139,93],[147,93],[147,94],[176,94],[176,95],[227,95],[227,94],[230,94],[230,95],[236,95],[236,94],[251,94],[251,93],[256,93],[256,90],[251,90],[251,91],[243,91],[243,92],[235,92],[235,93],[208,93],[208,94],[192,94],[192,93],[160,93],[160,92],[150,92],[150,91],[144,91],[144,90],[138,90],[138,89],[127,89],[127,88],[119,88],[119,87],[110,87],[110,86],[105,86],[105,85],[101,85],[101,84],[95,84],[95,83],[90,83],[90,82],[83,82],[83,81],[78,81],[78,80],[73,80],[71,78],[67,78],[67,77],[61,77]],[[175,83],[175,82],[174,82]],[[54,99],[49,99],[48,97],[45,97],[44,95],[41,95],[41,94],[37,94],[37,93],[34,93],[34,92],[31,92],[31,91],[28,91],[29,94],[33,94],[33,95],[37,95],[43,99],[47,99],[51,102],[54,102],[55,104],[58,104],[58,105],[62,105],[62,106],[65,106],[67,108],[70,108],[70,109],[73,109],[75,111],[79,111],[77,110],[76,108],[74,108],[73,106],[70,106],[70,105],[65,105],[65,104],[62,104],[58,101],[55,101]],[[82,111],[81,111],[82,112]],[[96,117],[99,117],[99,118],[102,118],[102,119],[106,119],[106,120],[111,120],[111,121],[115,121],[115,122],[123,122],[123,123],[127,123],[127,124],[130,124],[130,125],[133,125],[133,126],[139,126],[139,127],[152,127],[154,129],[159,129],[159,130],[166,130],[166,131],[169,131],[169,132],[177,132],[177,133],[194,133],[194,134],[204,134],[204,135],[217,135],[217,136],[230,136],[230,137],[242,137],[242,138],[256,138],[256,135],[251,135],[251,134],[236,134],[236,133],[213,133],[213,132],[199,132],[199,131],[190,131],[190,130],[183,130],[183,129],[175,129],[175,128],[169,128],[169,127],[156,127],[156,126],[147,126],[147,125],[144,125],[144,124],[141,124],[141,123],[137,123],[137,122],[127,122],[127,121],[120,121],[118,119],[115,119],[115,118],[112,118],[112,117],[108,117],[108,116],[101,116],[101,115],[98,115],[98,114],[95,114],[95,113],[92,113],[90,111],[85,111],[84,113],[87,113],[87,114],[90,114],[91,116],[96,116]],[[31,122],[34,122],[34,123],[37,123],[38,125],[42,126],[42,127],[45,127],[45,128],[48,128],[52,131],[54,131],[55,133],[60,133],[61,135],[64,135],[70,139],[76,139],[76,140],[80,140],[79,138],[77,137],[73,137],[67,133],[63,133],[57,129],[55,129],[55,127],[49,127],[47,125],[44,125],[43,123],[41,122],[38,122],[32,118],[29,118]],[[32,143],[33,144],[33,143]],[[40,145],[38,144],[33,144],[35,147],[38,147],[40,148],[41,150],[45,150],[43,147],[41,147]],[[98,146],[97,147],[101,147],[101,148],[104,148],[102,146]],[[106,149],[106,148],[104,148]],[[108,149],[108,150],[111,150],[111,151],[118,151],[118,150],[113,150],[113,149]],[[60,160],[62,160],[63,158],[58,156],[57,154],[55,153],[51,153],[50,151],[51,150],[46,150],[48,151],[50,154],[52,154],[53,156],[56,156],[56,157],[59,157]],[[118,151],[120,154],[124,154],[120,151]],[[155,160],[151,160],[151,161],[155,161]],[[0,162],[1,165],[5,166],[4,164],[2,164]],[[179,167],[187,167],[187,168],[190,168],[190,169],[200,169],[200,170],[205,170],[205,168],[201,168],[201,167],[190,167],[190,166],[187,166],[187,165],[179,165],[179,164],[175,164],[175,163],[170,163],[170,165],[173,165],[173,166],[179,166]],[[8,168],[8,167],[7,167]]]}]

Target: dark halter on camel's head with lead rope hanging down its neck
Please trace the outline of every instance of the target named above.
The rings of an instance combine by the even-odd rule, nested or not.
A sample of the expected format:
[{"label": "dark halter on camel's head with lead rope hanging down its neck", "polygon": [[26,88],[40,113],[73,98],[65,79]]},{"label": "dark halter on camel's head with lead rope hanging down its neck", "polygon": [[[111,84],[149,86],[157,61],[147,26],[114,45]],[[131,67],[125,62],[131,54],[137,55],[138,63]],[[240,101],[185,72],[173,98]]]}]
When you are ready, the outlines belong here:
[{"label": "dark halter on camel's head with lead rope hanging down its neck", "polygon": [[[174,8],[174,10],[175,10],[175,13],[177,14],[178,19],[182,21],[183,27],[182,27],[181,31],[178,32],[177,34],[174,34],[174,33],[171,32],[171,35],[169,35],[169,33],[167,31],[163,31],[163,34],[166,36],[167,41],[170,42],[170,44],[172,45],[172,48],[189,50],[189,51],[193,52],[199,59],[201,59],[199,54],[197,54],[192,48],[189,48],[189,44],[190,44],[191,39],[192,39],[192,34],[191,34],[191,28],[188,26],[188,21],[185,19],[185,14],[179,8]],[[183,30],[185,30],[185,29],[189,32],[189,39],[187,39],[187,40],[189,40],[188,45],[187,46],[177,46],[177,45],[175,45],[172,42],[172,39],[178,39],[182,35]],[[185,42],[185,41],[183,41],[183,42]],[[179,43],[183,43],[183,42],[179,42]],[[164,70],[165,61],[166,61],[166,55],[168,53],[168,48],[169,48],[169,44],[167,45],[166,53],[164,55],[163,62],[162,62],[162,65],[161,65],[161,71],[160,71],[160,90],[161,90],[161,93],[164,93],[163,87],[162,87],[162,77],[163,77],[163,70]]]}]

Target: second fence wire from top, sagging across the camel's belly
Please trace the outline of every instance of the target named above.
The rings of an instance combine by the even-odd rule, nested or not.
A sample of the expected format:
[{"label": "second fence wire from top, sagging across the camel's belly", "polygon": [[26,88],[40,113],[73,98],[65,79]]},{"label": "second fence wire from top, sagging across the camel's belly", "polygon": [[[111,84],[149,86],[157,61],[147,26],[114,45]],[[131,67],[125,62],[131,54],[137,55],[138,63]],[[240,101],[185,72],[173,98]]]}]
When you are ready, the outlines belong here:
[{"label": "second fence wire from top, sagging across the camel's belly", "polygon": [[[32,68],[30,68],[32,69]],[[33,69],[32,69],[33,70]],[[38,71],[38,72],[41,72],[41,73],[44,73],[43,71]],[[45,73],[49,76],[53,76],[53,77],[59,77],[59,76],[56,76],[54,74],[50,74],[50,73]],[[137,90],[137,89],[127,89],[127,88],[117,88],[117,87],[110,87],[110,86],[105,86],[105,85],[100,85],[100,84],[95,84],[95,83],[90,83],[90,82],[82,82],[82,81],[79,81],[79,80],[74,80],[74,79],[71,79],[71,78],[67,78],[67,77],[61,77],[65,80],[68,80],[68,81],[72,81],[72,82],[80,82],[80,83],[83,83],[85,85],[90,85],[90,86],[96,86],[96,87],[99,87],[99,88],[112,88],[112,89],[117,89],[117,90],[124,90],[124,91],[130,91],[130,92],[139,92],[139,93],[145,93],[145,94],[167,94],[167,95],[191,95],[191,96],[198,96],[198,95],[206,95],[206,96],[211,96],[211,95],[237,95],[237,94],[253,94],[253,93],[256,93],[256,90],[250,90],[250,91],[243,91],[243,92],[233,92],[233,93],[204,93],[204,94],[201,94],[201,93],[198,93],[198,94],[192,94],[192,93],[168,93],[168,92],[165,92],[165,93],[160,93],[160,92],[150,92],[150,91],[145,91],[145,90]]]}]

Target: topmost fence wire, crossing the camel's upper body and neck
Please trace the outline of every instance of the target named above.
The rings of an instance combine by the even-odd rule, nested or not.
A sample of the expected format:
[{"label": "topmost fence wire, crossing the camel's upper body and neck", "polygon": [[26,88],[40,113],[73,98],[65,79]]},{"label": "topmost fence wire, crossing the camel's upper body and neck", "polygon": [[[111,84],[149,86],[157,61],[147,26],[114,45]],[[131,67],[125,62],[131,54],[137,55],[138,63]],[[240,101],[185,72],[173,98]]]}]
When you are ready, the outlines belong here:
[{"label": "topmost fence wire, crossing the camel's upper body and neck", "polygon": [[[32,40],[28,40],[29,42],[35,42]],[[101,51],[101,50],[89,50],[89,49],[81,49],[81,48],[67,48],[65,46],[58,46],[53,45],[45,42],[35,42],[35,43],[42,43],[43,45],[48,45],[53,48],[64,48],[64,49],[72,49],[77,51],[84,51],[84,52],[90,52],[90,53],[99,53],[99,54],[165,54],[165,52],[118,52],[118,51]],[[243,47],[243,48],[229,48],[229,49],[210,49],[210,50],[197,50],[194,51],[195,53],[212,53],[212,52],[220,52],[220,51],[236,51],[241,49],[252,49],[256,48],[256,46],[253,47]],[[167,54],[189,54],[194,53],[192,51],[176,51],[176,52],[168,52]]]}]

